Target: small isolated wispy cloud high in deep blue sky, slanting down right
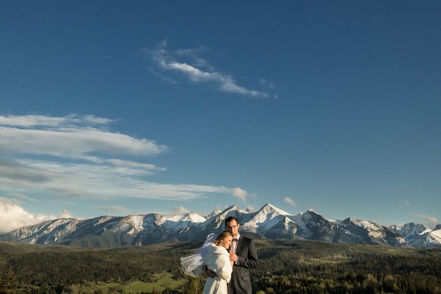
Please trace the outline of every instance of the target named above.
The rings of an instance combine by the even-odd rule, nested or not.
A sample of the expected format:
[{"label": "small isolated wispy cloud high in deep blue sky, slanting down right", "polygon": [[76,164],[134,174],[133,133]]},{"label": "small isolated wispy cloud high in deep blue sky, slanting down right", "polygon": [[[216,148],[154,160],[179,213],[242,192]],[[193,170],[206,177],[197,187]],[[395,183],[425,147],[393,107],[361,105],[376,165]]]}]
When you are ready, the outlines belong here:
[{"label": "small isolated wispy cloud high in deep blue sky, slanting down right", "polygon": [[[199,56],[202,51],[207,48],[198,49],[176,49],[174,51],[167,50],[167,41],[159,42],[154,49],[145,48],[142,53],[153,60],[158,69],[163,71],[172,71],[186,75],[190,81],[195,83],[215,83],[218,89],[224,92],[236,93],[251,97],[271,97],[266,92],[251,90],[244,86],[240,86],[234,80],[232,75],[220,73],[210,62]],[[190,57],[190,61],[183,61],[183,57]],[[163,76],[162,78],[164,78]],[[172,79],[168,77],[169,79]],[[174,81],[174,79],[172,79]],[[265,85],[268,85],[265,81]],[[262,84],[261,84],[262,85]],[[272,84],[273,85],[273,84]]]}]

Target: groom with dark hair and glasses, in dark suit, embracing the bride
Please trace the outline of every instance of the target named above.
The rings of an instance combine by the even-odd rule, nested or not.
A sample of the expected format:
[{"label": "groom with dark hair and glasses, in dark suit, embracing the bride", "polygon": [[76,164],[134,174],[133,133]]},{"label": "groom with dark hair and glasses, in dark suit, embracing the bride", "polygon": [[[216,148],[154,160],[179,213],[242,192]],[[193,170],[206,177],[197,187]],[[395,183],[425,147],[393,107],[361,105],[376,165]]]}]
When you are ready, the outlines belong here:
[{"label": "groom with dark hair and glasses, in dark suit, embracing the bride", "polygon": [[[225,220],[225,228],[233,235],[233,242],[230,247],[230,260],[234,262],[231,280],[228,283],[228,294],[251,294],[251,280],[248,269],[255,269],[259,266],[256,247],[251,239],[239,234],[239,221],[235,217],[228,217]],[[213,278],[216,273],[207,270],[209,277]]]}]

